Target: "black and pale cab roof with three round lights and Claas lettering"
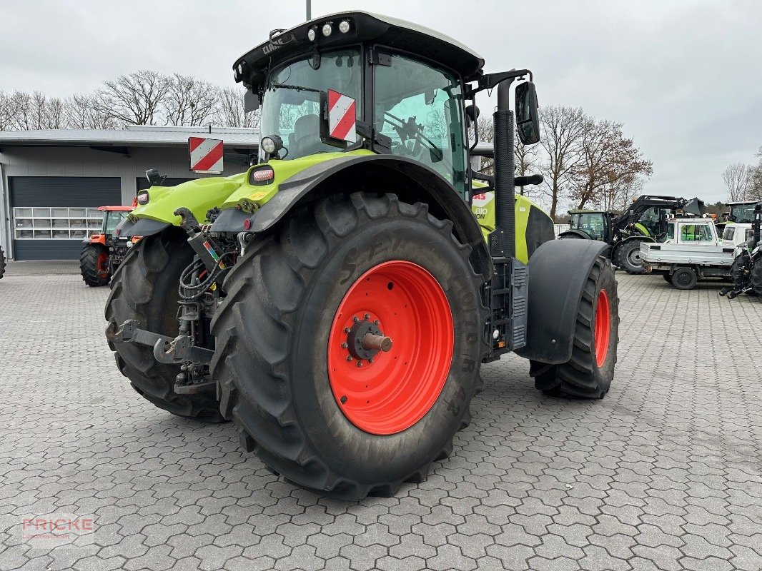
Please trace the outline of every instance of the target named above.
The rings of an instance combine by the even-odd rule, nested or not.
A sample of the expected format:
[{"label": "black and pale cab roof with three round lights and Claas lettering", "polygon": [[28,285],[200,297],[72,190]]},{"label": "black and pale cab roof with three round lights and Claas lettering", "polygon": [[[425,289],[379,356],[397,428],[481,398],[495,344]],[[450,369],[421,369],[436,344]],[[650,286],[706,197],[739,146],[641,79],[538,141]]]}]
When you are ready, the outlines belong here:
[{"label": "black and pale cab roof with three round lights and Claas lettering", "polygon": [[[338,30],[341,21],[349,22],[347,33]],[[322,34],[325,24],[331,24],[333,28],[328,37]],[[310,42],[307,37],[312,27],[315,27],[315,42]],[[244,84],[263,85],[266,70],[271,65],[314,53],[315,48],[322,52],[332,47],[364,42],[378,43],[431,59],[458,72],[464,81],[472,81],[482,75],[484,59],[459,41],[418,24],[365,11],[328,14],[289,30],[272,33],[270,40],[236,59],[233,69],[238,69],[242,64]],[[236,79],[239,79],[237,74]]]}]

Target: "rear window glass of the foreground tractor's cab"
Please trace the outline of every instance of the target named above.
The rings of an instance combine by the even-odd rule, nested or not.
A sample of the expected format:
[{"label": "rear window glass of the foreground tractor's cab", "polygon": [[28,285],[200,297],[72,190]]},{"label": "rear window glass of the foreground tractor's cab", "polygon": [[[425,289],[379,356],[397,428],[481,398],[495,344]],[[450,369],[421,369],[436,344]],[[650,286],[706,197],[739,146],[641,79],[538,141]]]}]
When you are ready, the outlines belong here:
[{"label": "rear window glass of the foreground tractor's cab", "polygon": [[[279,157],[306,157],[320,152],[337,152],[338,147],[320,140],[320,92],[332,89],[357,101],[362,110],[363,65],[360,49],[338,49],[321,54],[318,69],[311,56],[274,68],[262,99],[262,136],[283,139]],[[264,151],[260,150],[260,161]]]}]

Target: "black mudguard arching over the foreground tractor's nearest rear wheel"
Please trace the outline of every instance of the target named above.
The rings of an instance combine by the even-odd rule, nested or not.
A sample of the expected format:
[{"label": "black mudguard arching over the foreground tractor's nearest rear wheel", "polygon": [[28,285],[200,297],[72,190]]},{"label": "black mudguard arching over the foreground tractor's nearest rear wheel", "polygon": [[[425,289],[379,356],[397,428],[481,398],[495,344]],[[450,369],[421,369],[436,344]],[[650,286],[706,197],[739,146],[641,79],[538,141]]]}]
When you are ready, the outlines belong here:
[{"label": "black mudguard arching over the foreground tractor's nearest rear wheel", "polygon": [[[261,188],[255,187],[255,190]],[[485,279],[492,274],[492,260],[479,223],[463,197],[437,171],[418,161],[394,155],[349,155],[314,164],[283,180],[277,193],[255,212],[237,208],[223,210],[211,230],[267,231],[290,209],[319,189],[327,189],[327,193],[341,190],[392,192],[402,200],[427,202],[432,214],[437,215],[438,210],[446,215],[453,222],[459,239],[472,247],[476,270],[485,275]]]}]

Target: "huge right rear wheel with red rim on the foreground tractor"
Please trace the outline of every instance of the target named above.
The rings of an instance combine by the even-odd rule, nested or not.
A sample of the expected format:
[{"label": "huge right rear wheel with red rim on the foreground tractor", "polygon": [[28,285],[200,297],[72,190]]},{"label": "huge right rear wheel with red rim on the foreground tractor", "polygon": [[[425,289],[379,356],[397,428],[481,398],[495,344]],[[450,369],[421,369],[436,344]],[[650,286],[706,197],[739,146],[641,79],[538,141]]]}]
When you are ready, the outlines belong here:
[{"label": "huge right rear wheel with red rim on the foreground tractor", "polygon": [[[211,370],[220,410],[271,471],[357,500],[450,454],[486,348],[483,278],[452,228],[423,204],[355,193],[247,248],[223,285]],[[369,327],[388,352],[363,354]]]}]

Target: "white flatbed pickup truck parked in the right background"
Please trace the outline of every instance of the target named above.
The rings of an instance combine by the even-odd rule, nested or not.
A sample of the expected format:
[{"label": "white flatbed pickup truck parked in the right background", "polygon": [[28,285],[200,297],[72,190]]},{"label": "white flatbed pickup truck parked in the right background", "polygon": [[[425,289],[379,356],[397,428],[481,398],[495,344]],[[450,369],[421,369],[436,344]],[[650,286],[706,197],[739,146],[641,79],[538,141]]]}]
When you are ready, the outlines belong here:
[{"label": "white flatbed pickup truck parked in the right background", "polygon": [[666,241],[640,244],[645,273],[659,273],[677,289],[693,289],[703,278],[732,281],[733,261],[751,232],[751,224],[728,224],[719,238],[712,219],[672,219]]}]

